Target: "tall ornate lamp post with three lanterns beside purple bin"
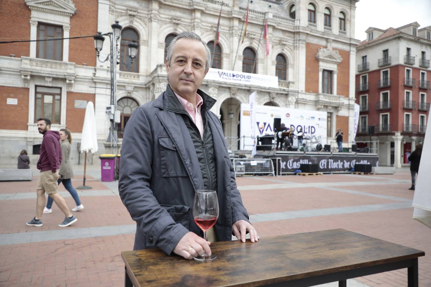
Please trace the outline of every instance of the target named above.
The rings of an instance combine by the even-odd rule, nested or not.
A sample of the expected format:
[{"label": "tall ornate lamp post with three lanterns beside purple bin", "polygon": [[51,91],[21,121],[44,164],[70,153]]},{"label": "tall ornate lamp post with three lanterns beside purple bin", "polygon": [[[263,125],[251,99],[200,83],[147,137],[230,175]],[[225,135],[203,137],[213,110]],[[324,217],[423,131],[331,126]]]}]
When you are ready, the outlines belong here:
[{"label": "tall ornate lamp post with three lanterns beside purple bin", "polygon": [[[118,152],[118,135],[117,135],[117,123],[120,122],[120,114],[119,111],[117,111],[117,65],[120,63],[120,61],[127,67],[131,67],[133,65],[133,61],[136,58],[137,51],[139,49],[139,46],[136,42],[132,42],[128,44],[128,54],[131,59],[130,65],[127,65],[123,59],[119,56],[119,46],[118,46],[118,40],[121,36],[121,30],[122,26],[119,25],[118,21],[116,21],[114,24],[111,25],[112,31],[109,33],[102,34],[100,32],[97,32],[97,35],[94,36],[94,49],[96,49],[97,52],[97,59],[100,62],[110,62],[110,78],[111,78],[111,96],[110,96],[110,103],[109,106],[106,107],[106,114],[109,118],[109,136],[106,142],[110,142],[110,148],[111,150],[117,154]],[[109,37],[109,54],[106,57],[106,59],[101,60],[100,59],[100,51],[103,48],[103,41],[105,40],[104,36]],[[118,167],[118,164],[116,165]],[[116,168],[116,174],[115,179],[118,179],[118,170]]]}]

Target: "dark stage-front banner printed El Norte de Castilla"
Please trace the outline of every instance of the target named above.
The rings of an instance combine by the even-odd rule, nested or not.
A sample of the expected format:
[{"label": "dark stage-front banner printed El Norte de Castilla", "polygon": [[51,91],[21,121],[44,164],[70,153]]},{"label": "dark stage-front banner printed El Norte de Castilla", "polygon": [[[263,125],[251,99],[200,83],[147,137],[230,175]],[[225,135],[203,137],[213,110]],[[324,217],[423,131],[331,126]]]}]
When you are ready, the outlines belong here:
[{"label": "dark stage-front banner printed El Norte de Castilla", "polygon": [[[281,173],[291,173],[299,170],[301,164],[318,164],[319,172],[346,171],[355,164],[371,164],[378,167],[378,156],[337,155],[337,154],[286,154],[265,156],[265,158],[281,158],[278,163]],[[276,164],[274,164],[276,168]]]}]

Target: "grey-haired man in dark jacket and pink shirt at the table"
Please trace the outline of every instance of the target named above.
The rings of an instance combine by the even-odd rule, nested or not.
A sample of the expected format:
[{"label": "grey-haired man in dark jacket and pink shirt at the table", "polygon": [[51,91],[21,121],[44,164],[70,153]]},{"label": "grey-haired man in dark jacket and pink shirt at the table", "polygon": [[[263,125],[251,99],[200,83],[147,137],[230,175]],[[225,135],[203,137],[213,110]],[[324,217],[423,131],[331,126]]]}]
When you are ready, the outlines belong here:
[{"label": "grey-haired man in dark jacket and pink shirt at the table", "polygon": [[256,242],[222,124],[209,111],[215,99],[198,89],[211,66],[211,51],[197,34],[183,32],[170,43],[166,58],[166,91],[133,112],[123,136],[119,194],[136,221],[134,250],[159,247],[186,259],[204,250],[211,255],[191,211],[199,189],[217,191],[220,212],[212,241],[234,234],[245,242],[249,232]]}]

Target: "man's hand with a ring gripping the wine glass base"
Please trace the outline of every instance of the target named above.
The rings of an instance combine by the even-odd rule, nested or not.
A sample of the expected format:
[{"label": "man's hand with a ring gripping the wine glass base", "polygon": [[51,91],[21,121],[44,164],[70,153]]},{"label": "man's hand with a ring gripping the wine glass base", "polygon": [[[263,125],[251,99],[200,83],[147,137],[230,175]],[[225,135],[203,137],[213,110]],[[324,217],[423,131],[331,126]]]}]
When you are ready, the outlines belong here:
[{"label": "man's hand with a ring gripping the wine glass base", "polygon": [[175,246],[174,253],[183,256],[185,259],[193,259],[193,257],[203,255],[203,250],[205,250],[206,255],[211,255],[209,244],[211,242],[203,240],[193,232],[187,232]]}]

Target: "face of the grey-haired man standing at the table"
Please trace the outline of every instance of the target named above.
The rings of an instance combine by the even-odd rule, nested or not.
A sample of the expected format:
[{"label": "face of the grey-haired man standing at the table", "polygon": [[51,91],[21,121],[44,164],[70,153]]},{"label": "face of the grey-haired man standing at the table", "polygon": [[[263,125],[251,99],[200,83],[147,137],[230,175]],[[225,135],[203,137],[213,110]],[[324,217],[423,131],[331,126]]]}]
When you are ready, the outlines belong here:
[{"label": "face of the grey-haired man standing at the table", "polygon": [[[206,52],[203,43],[181,38],[174,44],[171,63],[166,60],[166,72],[172,90],[182,97],[192,97],[202,84]],[[169,66],[170,65],[170,66]]]}]

